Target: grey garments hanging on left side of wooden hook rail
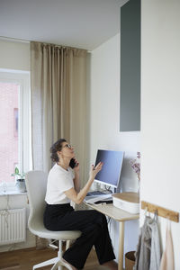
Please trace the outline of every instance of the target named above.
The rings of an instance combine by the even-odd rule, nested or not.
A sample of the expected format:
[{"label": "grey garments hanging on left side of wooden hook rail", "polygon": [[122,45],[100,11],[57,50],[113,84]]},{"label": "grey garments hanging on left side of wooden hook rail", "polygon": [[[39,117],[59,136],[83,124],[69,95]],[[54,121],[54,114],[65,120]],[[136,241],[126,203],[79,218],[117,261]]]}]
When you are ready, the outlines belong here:
[{"label": "grey garments hanging on left side of wooden hook rail", "polygon": [[157,227],[157,218],[145,218],[140,229],[139,243],[135,253],[133,270],[158,270],[160,266],[160,241]]}]

